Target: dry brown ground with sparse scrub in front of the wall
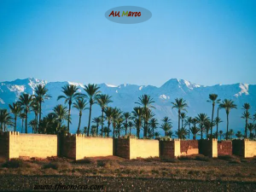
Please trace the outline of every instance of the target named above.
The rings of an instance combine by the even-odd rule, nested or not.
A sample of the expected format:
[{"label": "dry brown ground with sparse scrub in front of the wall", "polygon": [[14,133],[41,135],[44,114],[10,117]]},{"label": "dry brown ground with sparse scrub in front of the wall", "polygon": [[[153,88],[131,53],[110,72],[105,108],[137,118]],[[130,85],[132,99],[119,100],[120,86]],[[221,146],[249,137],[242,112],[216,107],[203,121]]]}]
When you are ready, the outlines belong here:
[{"label": "dry brown ground with sparse scrub in front of the wall", "polygon": [[36,184],[58,183],[100,184],[103,191],[256,191],[256,159],[195,155],[165,161],[114,156],[0,161],[0,190],[27,191]]}]

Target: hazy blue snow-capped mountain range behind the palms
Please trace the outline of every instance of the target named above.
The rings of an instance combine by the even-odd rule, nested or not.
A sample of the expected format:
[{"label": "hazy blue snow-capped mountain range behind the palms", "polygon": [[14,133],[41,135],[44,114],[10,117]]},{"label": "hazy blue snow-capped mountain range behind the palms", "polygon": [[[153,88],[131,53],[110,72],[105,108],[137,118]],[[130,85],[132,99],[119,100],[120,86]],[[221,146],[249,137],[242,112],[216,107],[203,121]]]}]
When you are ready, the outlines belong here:
[{"label": "hazy blue snow-capped mountain range behind the palms", "polygon": [[[57,96],[62,95],[61,87],[65,84],[75,84],[79,86],[81,92],[84,93],[84,84],[73,82],[47,82],[40,79],[16,79],[14,81],[0,82],[0,108],[8,108],[8,104],[18,100],[22,92],[33,94],[33,90],[37,84],[45,84],[49,89],[49,95],[52,96],[43,104],[43,117],[51,112],[55,105],[63,101],[57,101]],[[172,103],[175,98],[183,97],[188,104],[188,116],[194,117],[197,113],[207,113],[209,117],[212,112],[212,104],[207,102],[209,94],[218,94],[220,99],[232,99],[237,109],[232,109],[230,112],[230,129],[235,131],[244,129],[244,119],[241,119],[243,110],[241,106],[244,102],[249,102],[251,105],[250,113],[256,113],[256,85],[255,84],[216,84],[213,86],[203,86],[192,84],[183,79],[170,79],[160,87],[152,85],[137,85],[137,84],[120,84],[118,86],[112,84],[99,84],[101,91],[104,94],[112,96],[112,107],[121,108],[123,111],[131,112],[136,106],[135,102],[138,96],[148,94],[154,99],[154,113],[157,119],[162,119],[168,116],[172,119],[173,130],[177,130],[177,110],[172,109]],[[215,110],[216,116],[217,110]],[[101,109],[94,105],[92,108],[92,118],[99,116]],[[220,117],[224,121],[220,124],[220,129],[225,131],[226,116],[224,110],[220,110]],[[30,119],[34,118],[33,113],[30,113]],[[72,125],[71,131],[75,132],[79,122],[79,113],[72,109]],[[88,123],[88,110],[84,111],[81,126]],[[20,129],[20,121],[18,124]]]}]

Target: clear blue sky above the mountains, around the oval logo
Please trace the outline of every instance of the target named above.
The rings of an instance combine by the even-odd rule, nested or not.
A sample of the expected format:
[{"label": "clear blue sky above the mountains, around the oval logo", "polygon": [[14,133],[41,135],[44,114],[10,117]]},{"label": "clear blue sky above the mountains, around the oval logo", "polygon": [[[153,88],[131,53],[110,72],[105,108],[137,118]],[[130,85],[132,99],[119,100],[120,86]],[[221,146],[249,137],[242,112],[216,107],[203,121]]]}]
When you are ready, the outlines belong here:
[{"label": "clear blue sky above the mountains, around the oval logo", "polygon": [[[124,25],[108,9],[148,9]],[[256,1],[3,1],[0,81],[256,84]]]}]

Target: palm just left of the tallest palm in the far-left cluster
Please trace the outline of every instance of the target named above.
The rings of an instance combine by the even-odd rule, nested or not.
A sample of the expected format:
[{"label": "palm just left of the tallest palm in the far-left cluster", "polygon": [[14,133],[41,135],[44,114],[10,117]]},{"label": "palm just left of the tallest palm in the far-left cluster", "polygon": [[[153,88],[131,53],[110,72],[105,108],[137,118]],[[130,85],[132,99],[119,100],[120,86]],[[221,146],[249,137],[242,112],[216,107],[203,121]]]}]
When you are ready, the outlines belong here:
[{"label": "palm just left of the tallest palm in the far-left cluster", "polygon": [[27,113],[29,113],[32,101],[33,101],[33,96],[30,96],[26,93],[22,93],[18,101],[20,107],[24,108],[25,110],[25,115],[26,115],[25,116],[25,132],[26,133],[27,133]]}]

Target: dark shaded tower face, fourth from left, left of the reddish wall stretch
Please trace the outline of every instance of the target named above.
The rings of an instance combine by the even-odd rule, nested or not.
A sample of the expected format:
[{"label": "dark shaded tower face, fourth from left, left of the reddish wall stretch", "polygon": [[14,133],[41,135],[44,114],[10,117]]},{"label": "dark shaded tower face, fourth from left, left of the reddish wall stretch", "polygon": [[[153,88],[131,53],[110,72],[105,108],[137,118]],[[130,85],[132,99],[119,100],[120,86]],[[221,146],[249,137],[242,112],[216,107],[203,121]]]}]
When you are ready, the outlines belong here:
[{"label": "dark shaded tower face, fourth from left, left of the reddish wall stretch", "polygon": [[159,142],[159,151],[160,158],[162,160],[168,160],[175,158],[174,153],[174,141],[160,141]]}]

